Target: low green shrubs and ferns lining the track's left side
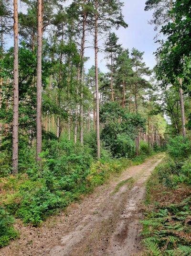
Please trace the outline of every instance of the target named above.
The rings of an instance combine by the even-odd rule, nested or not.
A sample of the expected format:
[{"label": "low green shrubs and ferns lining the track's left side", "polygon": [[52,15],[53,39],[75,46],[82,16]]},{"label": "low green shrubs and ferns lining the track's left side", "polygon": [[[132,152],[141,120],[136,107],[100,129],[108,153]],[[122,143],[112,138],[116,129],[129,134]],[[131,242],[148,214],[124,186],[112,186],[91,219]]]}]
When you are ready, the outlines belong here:
[{"label": "low green shrubs and ferns lining the track's left side", "polygon": [[26,173],[8,175],[0,182],[6,191],[0,196],[3,205],[25,224],[38,226],[49,215],[132,164],[127,159],[112,159],[106,150],[102,150],[104,158],[95,162],[92,149],[80,143],[75,145],[72,140],[46,140],[44,143],[48,150],[41,154],[42,170],[30,164],[25,170],[23,165]]}]

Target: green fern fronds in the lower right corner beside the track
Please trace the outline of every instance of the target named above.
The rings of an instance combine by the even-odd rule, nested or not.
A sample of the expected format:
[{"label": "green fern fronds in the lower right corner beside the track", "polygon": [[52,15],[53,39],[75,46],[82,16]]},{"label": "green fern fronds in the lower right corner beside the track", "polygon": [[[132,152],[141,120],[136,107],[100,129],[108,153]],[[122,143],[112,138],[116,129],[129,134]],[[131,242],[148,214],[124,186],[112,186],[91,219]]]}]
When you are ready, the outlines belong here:
[{"label": "green fern fronds in the lower right corner beside the track", "polygon": [[[168,208],[148,212],[143,224],[143,243],[152,255],[189,255],[191,198]],[[177,247],[179,249],[177,249]],[[178,254],[179,255],[179,254]]]}]

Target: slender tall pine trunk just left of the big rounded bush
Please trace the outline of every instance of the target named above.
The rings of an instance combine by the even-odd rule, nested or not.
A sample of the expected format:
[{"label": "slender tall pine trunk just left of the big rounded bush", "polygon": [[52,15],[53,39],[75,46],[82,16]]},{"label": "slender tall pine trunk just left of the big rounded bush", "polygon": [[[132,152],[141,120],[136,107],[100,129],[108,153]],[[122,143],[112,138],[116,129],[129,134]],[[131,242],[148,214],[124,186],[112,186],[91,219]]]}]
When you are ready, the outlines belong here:
[{"label": "slender tall pine trunk just left of the big rounded bush", "polygon": [[100,153],[100,134],[99,134],[99,84],[98,84],[98,65],[97,65],[97,53],[98,53],[98,44],[97,44],[97,2],[96,0],[96,21],[95,21],[95,74],[96,74],[96,135],[97,135],[97,158],[101,157]]}]

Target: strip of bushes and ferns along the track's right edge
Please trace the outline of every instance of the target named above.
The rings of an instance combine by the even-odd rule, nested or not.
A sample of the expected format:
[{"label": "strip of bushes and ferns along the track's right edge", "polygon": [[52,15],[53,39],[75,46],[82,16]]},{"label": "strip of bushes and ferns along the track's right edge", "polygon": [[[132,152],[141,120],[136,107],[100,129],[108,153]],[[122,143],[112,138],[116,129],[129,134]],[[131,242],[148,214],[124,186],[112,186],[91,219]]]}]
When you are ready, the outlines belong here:
[{"label": "strip of bushes and ferns along the track's right edge", "polygon": [[191,143],[170,139],[168,153],[147,182],[143,255],[191,255]]}]

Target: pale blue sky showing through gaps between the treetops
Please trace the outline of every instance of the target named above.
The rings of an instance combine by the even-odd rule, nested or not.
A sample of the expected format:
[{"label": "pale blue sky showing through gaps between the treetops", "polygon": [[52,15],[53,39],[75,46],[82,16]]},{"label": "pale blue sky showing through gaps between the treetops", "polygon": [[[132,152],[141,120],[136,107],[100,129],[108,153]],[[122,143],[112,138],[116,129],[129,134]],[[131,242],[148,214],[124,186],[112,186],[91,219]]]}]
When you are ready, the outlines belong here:
[{"label": "pale blue sky showing through gaps between the treetops", "polygon": [[[123,0],[123,15],[125,22],[128,24],[128,28],[119,28],[116,32],[119,37],[119,44],[122,47],[128,48],[129,51],[133,47],[137,48],[139,51],[145,52],[143,60],[145,61],[147,67],[153,68],[155,66],[155,57],[153,52],[156,51],[157,46],[154,43],[154,37],[156,32],[154,31],[154,26],[150,25],[148,21],[152,18],[152,12],[145,12],[145,1],[146,0]],[[68,0],[66,5],[70,4],[72,0]],[[26,12],[26,8],[23,4],[19,5],[22,11]],[[102,48],[104,40],[99,41],[99,47]],[[7,40],[7,47],[13,46],[13,38]],[[85,56],[89,57],[89,60],[85,63],[85,70],[87,71],[95,63],[95,55],[93,49],[86,49]],[[102,72],[106,72],[106,59],[104,59],[104,54],[99,53],[98,55],[98,65]]]}]

